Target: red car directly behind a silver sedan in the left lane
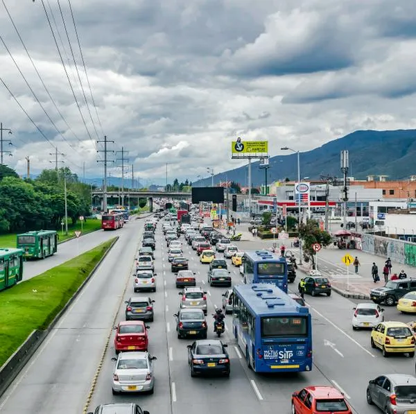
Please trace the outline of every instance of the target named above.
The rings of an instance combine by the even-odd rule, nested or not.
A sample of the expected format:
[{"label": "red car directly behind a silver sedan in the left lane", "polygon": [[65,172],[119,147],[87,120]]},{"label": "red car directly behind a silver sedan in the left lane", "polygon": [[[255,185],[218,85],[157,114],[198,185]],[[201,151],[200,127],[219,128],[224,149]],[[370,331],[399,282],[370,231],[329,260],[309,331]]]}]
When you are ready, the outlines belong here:
[{"label": "red car directly behind a silver sedan in the left lane", "polygon": [[116,329],[114,348],[116,354],[121,351],[147,351],[148,326],[142,320],[123,320]]}]

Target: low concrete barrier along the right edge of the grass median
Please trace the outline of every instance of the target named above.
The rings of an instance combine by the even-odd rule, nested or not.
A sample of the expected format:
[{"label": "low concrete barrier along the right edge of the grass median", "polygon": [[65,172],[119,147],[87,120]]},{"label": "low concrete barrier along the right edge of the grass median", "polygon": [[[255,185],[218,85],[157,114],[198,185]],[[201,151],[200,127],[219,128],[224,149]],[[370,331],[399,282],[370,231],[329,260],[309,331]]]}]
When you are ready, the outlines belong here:
[{"label": "low concrete barrier along the right edge of the grass median", "polygon": [[19,349],[10,356],[10,358],[6,361],[6,363],[3,364],[3,366],[0,368],[0,397],[5,393],[7,388],[10,386],[12,381],[15,380],[19,372],[24,368],[26,363],[28,363],[29,359],[35,354],[37,349],[40,347],[46,336],[49,335],[53,327],[56,325],[58,320],[62,317],[62,315],[67,311],[67,309],[71,306],[72,302],[76,300],[76,297],[80,294],[80,292],[83,290],[85,285],[89,282],[89,279],[96,273],[96,270],[98,269],[98,266],[101,265],[102,261],[105,259],[105,257],[108,255],[110,250],[113,248],[116,241],[119,240],[119,236],[116,236],[116,239],[112,242],[110,245],[110,248],[108,248],[107,252],[105,252],[105,255],[101,257],[101,259],[98,261],[96,266],[91,270],[89,275],[86,277],[85,281],[81,286],[77,289],[77,291],[73,294],[71,299],[67,302],[67,304],[64,305],[64,307],[60,310],[57,316],[53,319],[53,321],[50,323],[49,327],[47,327],[44,331],[35,330],[33,331],[28,338],[22,343],[19,347]]}]

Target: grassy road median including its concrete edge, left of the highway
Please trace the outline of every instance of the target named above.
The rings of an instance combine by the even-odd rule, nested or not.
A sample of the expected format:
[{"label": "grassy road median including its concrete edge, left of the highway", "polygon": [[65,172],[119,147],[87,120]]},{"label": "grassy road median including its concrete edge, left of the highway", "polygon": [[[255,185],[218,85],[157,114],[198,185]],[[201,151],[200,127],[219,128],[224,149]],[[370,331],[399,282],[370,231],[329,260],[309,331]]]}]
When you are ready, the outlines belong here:
[{"label": "grassy road median including its concrete edge, left of the highway", "polygon": [[105,241],[0,294],[0,395],[24,368],[118,239]]}]

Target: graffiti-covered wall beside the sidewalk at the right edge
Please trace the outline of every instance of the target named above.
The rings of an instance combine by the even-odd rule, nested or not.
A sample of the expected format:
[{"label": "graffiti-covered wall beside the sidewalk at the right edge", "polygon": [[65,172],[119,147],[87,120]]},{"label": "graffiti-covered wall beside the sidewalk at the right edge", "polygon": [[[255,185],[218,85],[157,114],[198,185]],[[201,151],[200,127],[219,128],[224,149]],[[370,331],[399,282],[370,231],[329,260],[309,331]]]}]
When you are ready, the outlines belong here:
[{"label": "graffiti-covered wall beside the sidewalk at the right edge", "polygon": [[390,257],[392,261],[416,267],[416,243],[374,234],[361,235],[361,250],[371,255]]}]

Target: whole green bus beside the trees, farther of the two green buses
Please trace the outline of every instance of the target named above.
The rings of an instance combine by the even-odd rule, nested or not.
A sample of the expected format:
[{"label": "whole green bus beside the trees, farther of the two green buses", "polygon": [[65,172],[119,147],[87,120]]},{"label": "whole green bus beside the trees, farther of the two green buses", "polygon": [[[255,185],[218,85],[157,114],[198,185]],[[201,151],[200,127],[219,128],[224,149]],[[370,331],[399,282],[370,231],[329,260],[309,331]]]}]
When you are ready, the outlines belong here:
[{"label": "whole green bus beside the trees, farther of the two green buses", "polygon": [[55,230],[38,230],[17,234],[17,248],[24,250],[26,258],[52,256],[58,250],[58,234]]}]

